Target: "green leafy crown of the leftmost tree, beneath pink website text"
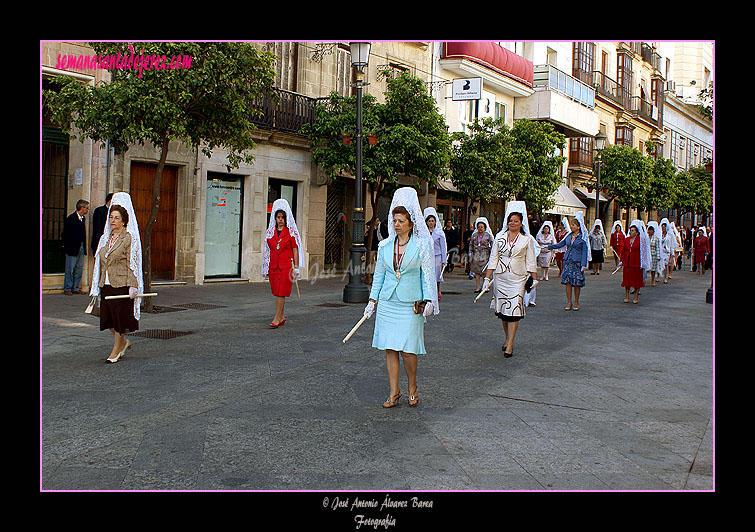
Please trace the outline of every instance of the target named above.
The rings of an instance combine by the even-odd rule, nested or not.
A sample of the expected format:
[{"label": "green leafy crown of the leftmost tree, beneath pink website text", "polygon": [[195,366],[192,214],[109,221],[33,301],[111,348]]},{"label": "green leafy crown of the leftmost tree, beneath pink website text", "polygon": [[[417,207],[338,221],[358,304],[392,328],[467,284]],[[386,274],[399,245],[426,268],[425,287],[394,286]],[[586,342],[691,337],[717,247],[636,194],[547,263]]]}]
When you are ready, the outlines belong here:
[{"label": "green leafy crown of the leftmost tree, beneath pink website text", "polygon": [[191,56],[190,68],[113,68],[111,81],[82,85],[61,76],[57,91],[45,91],[52,118],[70,132],[79,131],[127,149],[172,140],[202,146],[209,157],[224,147],[229,169],[251,163],[254,111],[249,107],[274,81],[274,56],[245,43],[160,42],[91,43],[97,56]]}]

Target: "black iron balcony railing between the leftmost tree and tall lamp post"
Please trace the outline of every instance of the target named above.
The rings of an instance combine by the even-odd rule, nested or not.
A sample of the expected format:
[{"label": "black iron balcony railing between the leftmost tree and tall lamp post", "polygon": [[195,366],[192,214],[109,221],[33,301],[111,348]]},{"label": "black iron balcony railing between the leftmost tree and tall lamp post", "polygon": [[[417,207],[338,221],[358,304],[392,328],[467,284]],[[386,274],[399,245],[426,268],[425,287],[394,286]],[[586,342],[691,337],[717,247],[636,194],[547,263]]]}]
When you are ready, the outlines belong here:
[{"label": "black iron balcony railing between the leftmost tree and tall lamp post", "polygon": [[316,100],[309,96],[274,88],[249,105],[263,113],[251,121],[263,128],[299,133],[304,124],[314,121],[315,104]]}]

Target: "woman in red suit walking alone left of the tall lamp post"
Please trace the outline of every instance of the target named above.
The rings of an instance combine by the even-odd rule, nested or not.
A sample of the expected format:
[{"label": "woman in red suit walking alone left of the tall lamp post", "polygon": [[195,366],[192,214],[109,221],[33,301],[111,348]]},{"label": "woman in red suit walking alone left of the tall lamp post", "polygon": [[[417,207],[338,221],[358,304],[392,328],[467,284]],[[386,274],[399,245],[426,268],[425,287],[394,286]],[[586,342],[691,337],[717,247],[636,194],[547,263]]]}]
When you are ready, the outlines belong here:
[{"label": "woman in red suit walking alone left of the tall lamp post", "polygon": [[275,316],[270,328],[277,329],[286,323],[283,314],[286,298],[291,295],[293,282],[299,277],[301,239],[286,200],[276,200],[271,212],[273,219],[265,235],[262,273],[269,277],[270,290],[275,296]]}]

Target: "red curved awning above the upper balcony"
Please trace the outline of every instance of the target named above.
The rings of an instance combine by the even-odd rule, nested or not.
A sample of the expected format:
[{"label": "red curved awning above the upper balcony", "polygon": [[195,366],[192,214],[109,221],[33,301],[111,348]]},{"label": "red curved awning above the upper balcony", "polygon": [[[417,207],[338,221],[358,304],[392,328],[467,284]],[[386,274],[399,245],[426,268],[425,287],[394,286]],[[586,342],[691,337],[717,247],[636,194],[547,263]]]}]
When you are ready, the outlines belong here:
[{"label": "red curved awning above the upper balcony", "polygon": [[468,59],[532,87],[532,61],[494,42],[445,42],[442,59]]}]

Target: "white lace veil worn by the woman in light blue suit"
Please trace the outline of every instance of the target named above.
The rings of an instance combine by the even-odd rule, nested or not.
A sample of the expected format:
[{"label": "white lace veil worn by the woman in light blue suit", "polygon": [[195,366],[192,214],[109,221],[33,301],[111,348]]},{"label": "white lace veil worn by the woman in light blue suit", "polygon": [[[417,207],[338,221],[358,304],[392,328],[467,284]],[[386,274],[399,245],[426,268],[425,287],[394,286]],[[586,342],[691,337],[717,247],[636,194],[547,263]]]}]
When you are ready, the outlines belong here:
[{"label": "white lace veil worn by the woman in light blue suit", "polygon": [[[396,237],[396,229],[393,227],[393,209],[399,205],[409,212],[413,224],[412,237],[416,239],[415,244],[419,248],[422,261],[422,274],[425,276],[425,284],[431,291],[433,314],[438,314],[440,308],[438,306],[438,287],[435,280],[435,245],[425,223],[425,216],[422,207],[419,205],[417,191],[413,187],[401,187],[393,194],[391,208],[388,211],[388,238],[386,240],[393,242]],[[435,219],[437,220],[437,217]]]}]

